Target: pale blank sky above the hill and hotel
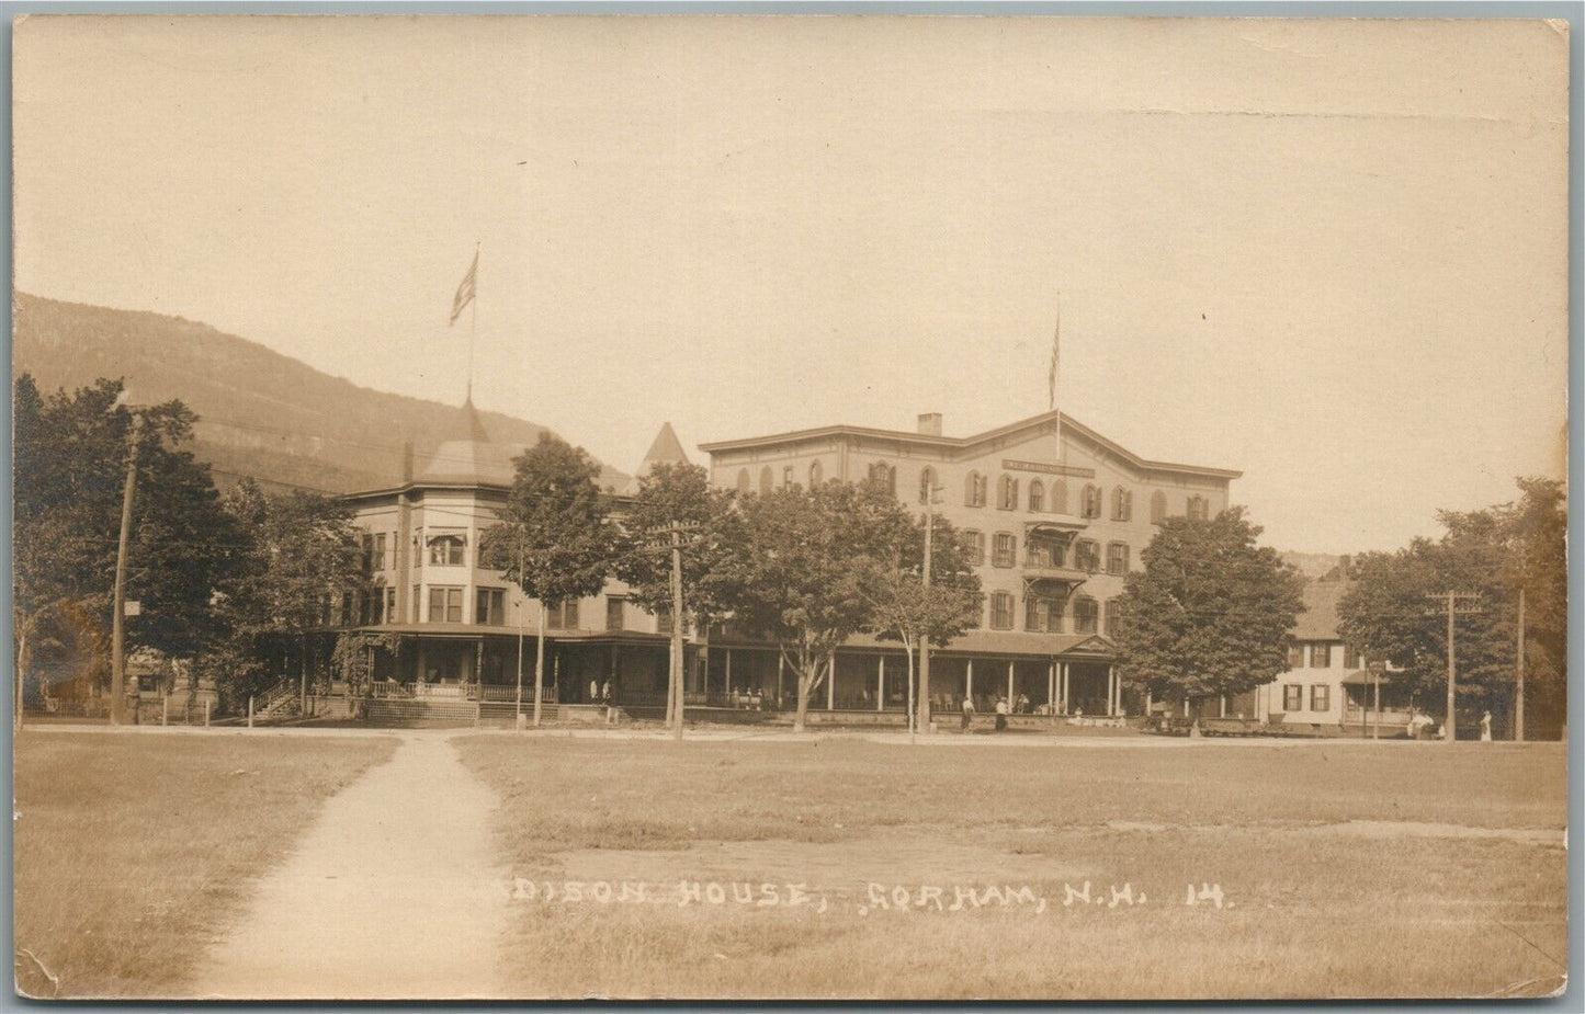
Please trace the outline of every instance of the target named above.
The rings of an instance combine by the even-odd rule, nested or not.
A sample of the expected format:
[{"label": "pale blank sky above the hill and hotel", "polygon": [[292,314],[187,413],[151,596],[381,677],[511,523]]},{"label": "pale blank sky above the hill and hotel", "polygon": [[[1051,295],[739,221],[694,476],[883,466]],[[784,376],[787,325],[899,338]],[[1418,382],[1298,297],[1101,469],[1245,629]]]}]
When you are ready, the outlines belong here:
[{"label": "pale blank sky above the hill and hotel", "polygon": [[[1346,553],[1563,475],[1542,22],[30,17],[16,287],[631,471],[1046,409]],[[702,459],[702,458],[696,458]]]}]

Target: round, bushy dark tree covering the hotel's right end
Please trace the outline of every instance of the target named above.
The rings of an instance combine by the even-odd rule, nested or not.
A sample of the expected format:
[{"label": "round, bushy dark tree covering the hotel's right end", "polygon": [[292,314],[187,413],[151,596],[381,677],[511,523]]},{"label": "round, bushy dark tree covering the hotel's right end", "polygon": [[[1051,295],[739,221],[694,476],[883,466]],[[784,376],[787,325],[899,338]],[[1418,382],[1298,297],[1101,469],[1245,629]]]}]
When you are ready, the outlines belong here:
[{"label": "round, bushy dark tree covering the hotel's right end", "polygon": [[1117,599],[1121,677],[1165,699],[1241,694],[1287,670],[1303,578],[1243,507],[1167,518]]}]

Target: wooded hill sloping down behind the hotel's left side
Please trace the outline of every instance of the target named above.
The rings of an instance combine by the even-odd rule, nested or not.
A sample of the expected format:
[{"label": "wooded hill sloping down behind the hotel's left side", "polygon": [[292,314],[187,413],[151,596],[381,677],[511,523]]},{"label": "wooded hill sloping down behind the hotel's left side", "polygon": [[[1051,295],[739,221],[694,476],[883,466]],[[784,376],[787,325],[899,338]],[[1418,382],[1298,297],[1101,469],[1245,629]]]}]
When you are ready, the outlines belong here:
[{"label": "wooded hill sloping down behind the hotel's left side", "polygon": [[[44,393],[124,377],[139,402],[185,402],[198,414],[193,450],[220,486],[243,475],[328,493],[391,486],[403,477],[403,444],[412,440],[422,469],[458,412],[358,387],[182,317],[17,293],[13,322],[13,372],[33,374]],[[533,444],[544,431],[499,412],[480,417],[504,445]],[[602,482],[620,488],[626,475],[604,469]]]}]

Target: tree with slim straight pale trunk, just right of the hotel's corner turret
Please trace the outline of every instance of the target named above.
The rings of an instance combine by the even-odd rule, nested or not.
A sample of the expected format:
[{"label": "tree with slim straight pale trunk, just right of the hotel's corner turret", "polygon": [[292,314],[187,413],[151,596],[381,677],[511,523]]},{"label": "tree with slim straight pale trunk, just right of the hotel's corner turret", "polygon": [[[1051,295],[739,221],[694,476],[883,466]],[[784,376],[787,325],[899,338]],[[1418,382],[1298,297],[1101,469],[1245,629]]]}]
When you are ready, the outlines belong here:
[{"label": "tree with slim straight pale trunk, just right of the hotel's corner turret", "polygon": [[552,433],[514,459],[501,524],[479,542],[479,561],[539,600],[534,654],[534,724],[545,680],[545,605],[599,594],[615,564],[613,531],[598,478],[582,447]]}]

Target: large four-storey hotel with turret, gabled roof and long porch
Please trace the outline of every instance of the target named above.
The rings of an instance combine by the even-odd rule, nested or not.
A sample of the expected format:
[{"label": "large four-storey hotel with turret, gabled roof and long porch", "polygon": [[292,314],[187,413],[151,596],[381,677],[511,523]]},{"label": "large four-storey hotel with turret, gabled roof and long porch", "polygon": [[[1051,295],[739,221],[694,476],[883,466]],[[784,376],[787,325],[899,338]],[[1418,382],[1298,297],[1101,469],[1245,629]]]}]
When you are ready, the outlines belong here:
[{"label": "large four-storey hotel with turret, gabled roof and long porch", "polygon": [[[347,496],[365,531],[372,593],[346,596],[331,626],[398,634],[401,648],[377,662],[382,692],[409,697],[510,700],[520,661],[533,684],[534,639],[545,637],[547,699],[588,703],[609,681],[628,708],[664,702],[666,624],[626,599],[620,581],[602,594],[547,610],[502,575],[476,566],[480,532],[495,523],[512,482],[510,456],[490,440],[472,404],[433,459],[399,486]],[[981,708],[995,696],[1027,697],[1037,711],[1087,716],[1140,713],[1114,678],[1113,602],[1155,524],[1173,515],[1213,517],[1228,505],[1239,472],[1140,458],[1057,412],[968,437],[943,434],[940,415],[915,431],[824,426],[718,440],[702,448],[710,480],[762,493],[788,483],[873,478],[967,534],[984,586],[984,615],[945,650],[932,651],[929,694],[937,708],[964,696]],[[639,467],[688,456],[664,426]],[[637,488],[610,488],[620,501]],[[853,639],[812,708],[902,711],[907,659],[900,645]],[[693,631],[686,692],[691,707],[791,707],[794,681],[780,653],[728,624]]]}]

